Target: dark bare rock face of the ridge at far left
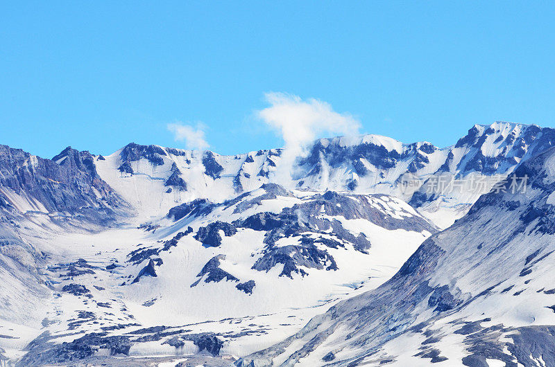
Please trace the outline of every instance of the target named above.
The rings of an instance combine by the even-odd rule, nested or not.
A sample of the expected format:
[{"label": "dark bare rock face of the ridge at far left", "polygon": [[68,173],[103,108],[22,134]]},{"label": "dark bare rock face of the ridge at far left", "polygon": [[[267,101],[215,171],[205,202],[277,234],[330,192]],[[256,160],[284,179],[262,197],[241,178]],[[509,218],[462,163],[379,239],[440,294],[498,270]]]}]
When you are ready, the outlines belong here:
[{"label": "dark bare rock face of the ridge at far left", "polygon": [[[54,159],[0,145],[0,186],[35,199],[46,211],[79,213],[92,222],[108,224],[114,220],[114,210],[126,207],[99,177],[92,154],[67,147]],[[12,208],[7,197],[0,194],[0,198],[2,206]]]}]

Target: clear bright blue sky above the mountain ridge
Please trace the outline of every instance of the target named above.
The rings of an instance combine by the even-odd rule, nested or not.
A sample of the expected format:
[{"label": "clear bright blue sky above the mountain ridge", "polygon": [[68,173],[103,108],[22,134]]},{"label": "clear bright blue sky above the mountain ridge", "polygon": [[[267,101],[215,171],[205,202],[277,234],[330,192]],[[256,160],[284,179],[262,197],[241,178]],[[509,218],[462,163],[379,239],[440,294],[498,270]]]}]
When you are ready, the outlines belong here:
[{"label": "clear bright blue sky above the mountain ridge", "polygon": [[450,145],[475,123],[554,126],[555,1],[2,1],[0,143],[51,157],[130,141],[282,145],[264,92],[363,132]]}]

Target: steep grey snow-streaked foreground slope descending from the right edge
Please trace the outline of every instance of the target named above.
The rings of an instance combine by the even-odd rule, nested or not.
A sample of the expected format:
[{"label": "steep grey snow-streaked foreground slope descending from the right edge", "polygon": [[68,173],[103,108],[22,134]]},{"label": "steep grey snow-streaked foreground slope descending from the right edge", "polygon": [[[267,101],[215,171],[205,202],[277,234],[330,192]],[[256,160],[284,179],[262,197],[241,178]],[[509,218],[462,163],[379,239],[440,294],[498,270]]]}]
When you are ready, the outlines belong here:
[{"label": "steep grey snow-streaked foreground slope descending from the right edge", "polygon": [[555,366],[555,150],[516,174],[525,192],[482,196],[384,285],[237,365]]}]

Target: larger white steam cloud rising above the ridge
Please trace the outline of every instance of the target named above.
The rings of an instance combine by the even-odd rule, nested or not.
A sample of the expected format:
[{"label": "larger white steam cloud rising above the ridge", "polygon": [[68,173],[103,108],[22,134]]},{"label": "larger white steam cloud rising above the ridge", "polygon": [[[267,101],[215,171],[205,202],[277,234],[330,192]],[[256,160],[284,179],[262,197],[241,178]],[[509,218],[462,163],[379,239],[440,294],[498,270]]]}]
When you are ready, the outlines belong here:
[{"label": "larger white steam cloud rising above the ridge", "polygon": [[280,164],[283,184],[291,179],[289,172],[295,159],[305,156],[316,138],[359,134],[359,121],[350,114],[339,114],[327,102],[274,92],[266,93],[265,98],[270,106],[257,111],[257,116],[284,140]]}]

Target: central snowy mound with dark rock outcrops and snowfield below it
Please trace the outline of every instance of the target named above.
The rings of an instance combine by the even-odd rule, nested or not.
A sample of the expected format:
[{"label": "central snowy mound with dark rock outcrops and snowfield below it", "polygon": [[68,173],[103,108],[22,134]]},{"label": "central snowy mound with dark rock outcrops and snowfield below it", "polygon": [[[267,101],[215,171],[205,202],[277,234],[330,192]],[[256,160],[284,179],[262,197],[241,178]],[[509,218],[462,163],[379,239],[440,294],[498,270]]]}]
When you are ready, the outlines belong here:
[{"label": "central snowy mound with dark rock outcrops and snowfield below it", "polygon": [[52,311],[26,364],[87,355],[61,352],[76,335],[94,350],[87,357],[124,347],[136,358],[190,355],[204,345],[191,337],[200,335],[237,358],[382,284],[436,231],[394,197],[275,184],[171,213],[140,228],[56,239],[71,261],[49,267],[58,278]]}]

